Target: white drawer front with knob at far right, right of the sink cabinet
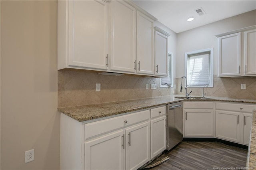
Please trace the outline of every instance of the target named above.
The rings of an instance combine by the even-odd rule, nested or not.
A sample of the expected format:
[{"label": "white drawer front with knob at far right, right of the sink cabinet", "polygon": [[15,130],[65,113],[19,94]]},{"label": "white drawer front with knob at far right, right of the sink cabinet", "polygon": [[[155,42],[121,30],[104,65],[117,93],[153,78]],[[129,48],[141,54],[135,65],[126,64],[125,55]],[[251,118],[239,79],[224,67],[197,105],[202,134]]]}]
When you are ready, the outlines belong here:
[{"label": "white drawer front with knob at far right, right of the sink cabinet", "polygon": [[252,110],[256,109],[256,105],[245,105],[245,104],[240,104],[240,103],[219,103],[219,102],[216,102],[215,103],[215,109],[252,113]]}]

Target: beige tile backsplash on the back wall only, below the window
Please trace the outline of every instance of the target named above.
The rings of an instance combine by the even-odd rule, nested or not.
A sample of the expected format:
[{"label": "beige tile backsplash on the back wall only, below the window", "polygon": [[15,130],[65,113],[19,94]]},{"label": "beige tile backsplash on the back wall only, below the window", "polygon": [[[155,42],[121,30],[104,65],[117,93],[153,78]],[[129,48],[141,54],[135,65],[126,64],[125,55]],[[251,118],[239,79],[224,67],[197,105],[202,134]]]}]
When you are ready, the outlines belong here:
[{"label": "beige tile backsplash on the back wall only, below the window", "polygon": [[[183,89],[180,93],[181,78],[176,78],[175,94],[185,95],[185,90]],[[246,84],[246,89],[241,90],[241,84]],[[184,85],[184,79],[183,83]],[[207,96],[214,97],[229,97],[234,99],[256,99],[256,77],[217,77],[214,76],[213,86],[209,88],[204,88],[204,93]],[[188,88],[188,93],[191,96],[202,96],[203,88]]]}]

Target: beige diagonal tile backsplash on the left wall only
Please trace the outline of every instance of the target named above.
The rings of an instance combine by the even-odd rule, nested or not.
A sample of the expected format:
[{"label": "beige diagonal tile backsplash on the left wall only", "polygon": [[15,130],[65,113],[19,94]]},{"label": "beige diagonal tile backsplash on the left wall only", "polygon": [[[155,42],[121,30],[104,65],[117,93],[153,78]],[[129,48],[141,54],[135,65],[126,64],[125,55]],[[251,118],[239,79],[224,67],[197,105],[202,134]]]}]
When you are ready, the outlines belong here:
[{"label": "beige diagonal tile backsplash on the left wall only", "polygon": [[[96,92],[100,83],[100,92]],[[146,90],[146,84],[149,89]],[[150,84],[156,84],[155,90]],[[173,88],[160,88],[160,78],[138,75],[98,75],[96,71],[58,71],[58,107],[89,105],[172,95]]]}]

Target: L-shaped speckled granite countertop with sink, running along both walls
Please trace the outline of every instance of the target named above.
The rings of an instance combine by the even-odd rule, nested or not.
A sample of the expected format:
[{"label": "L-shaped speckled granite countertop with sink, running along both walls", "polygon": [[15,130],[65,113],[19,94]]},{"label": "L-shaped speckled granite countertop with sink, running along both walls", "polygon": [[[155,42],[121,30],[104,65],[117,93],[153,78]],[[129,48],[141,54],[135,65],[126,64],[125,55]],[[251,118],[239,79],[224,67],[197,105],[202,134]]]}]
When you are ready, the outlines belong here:
[{"label": "L-shaped speckled granite countertop with sink, running along both walls", "polygon": [[122,113],[138,111],[141,109],[147,109],[150,107],[156,107],[160,105],[166,105],[175,103],[178,101],[229,101],[239,103],[254,103],[254,99],[230,99],[226,97],[209,97],[206,99],[177,99],[175,97],[184,97],[183,95],[170,95],[162,97],[152,97],[145,99],[136,99],[128,101],[119,101],[112,103],[100,103],[94,105],[83,105],[74,107],[62,107],[58,108],[61,113],[75,119],[79,122],[89,121],[93,119],[118,115]]}]

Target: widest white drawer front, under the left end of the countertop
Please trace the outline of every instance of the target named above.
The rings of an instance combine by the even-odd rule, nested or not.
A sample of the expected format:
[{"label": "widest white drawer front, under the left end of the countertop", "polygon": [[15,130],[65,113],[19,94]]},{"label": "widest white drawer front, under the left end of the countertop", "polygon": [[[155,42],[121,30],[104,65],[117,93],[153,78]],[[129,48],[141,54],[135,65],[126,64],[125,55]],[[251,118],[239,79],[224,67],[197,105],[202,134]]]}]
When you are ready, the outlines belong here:
[{"label": "widest white drawer front, under the left end of the countertop", "polygon": [[[149,119],[149,110],[131,113],[119,117],[87,123],[84,125],[84,140],[92,136],[103,134],[111,130],[146,121]],[[126,123],[127,122],[127,123]]]}]

